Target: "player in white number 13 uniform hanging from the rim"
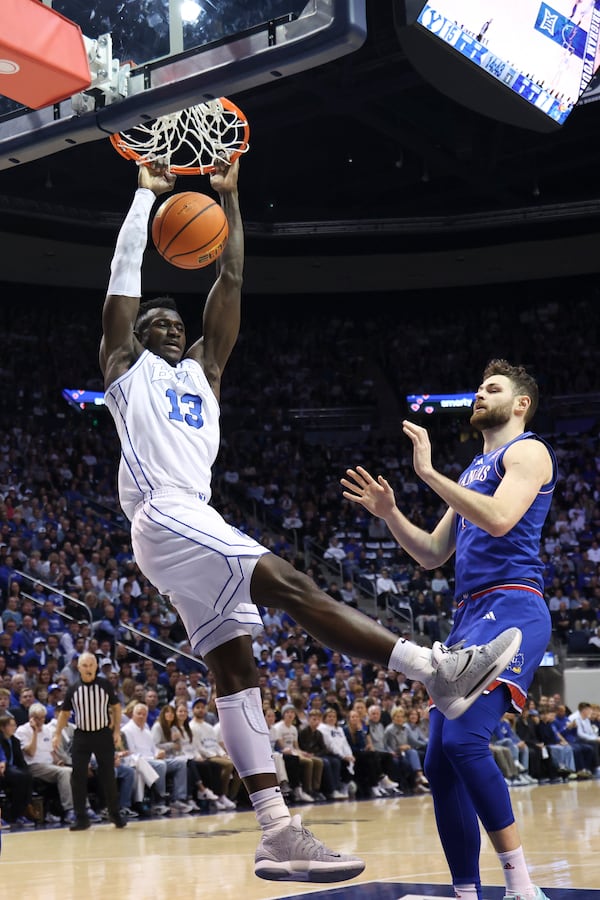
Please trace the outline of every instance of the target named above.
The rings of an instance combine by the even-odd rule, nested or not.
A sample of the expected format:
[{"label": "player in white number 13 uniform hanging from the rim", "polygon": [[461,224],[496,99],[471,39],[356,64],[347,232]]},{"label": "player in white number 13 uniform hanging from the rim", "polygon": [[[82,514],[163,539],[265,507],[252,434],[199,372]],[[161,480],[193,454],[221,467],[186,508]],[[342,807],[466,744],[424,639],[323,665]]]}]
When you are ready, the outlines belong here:
[{"label": "player in white number 13 uniform hanging from the rim", "polygon": [[140,306],[148,219],[155,197],[172,190],[175,178],[159,164],[138,172],[112,261],[100,346],[106,404],[121,441],[119,499],[131,520],[136,561],[169,595],[194,651],[215,676],[222,737],[262,829],[256,874],[293,881],[352,878],[362,872],[362,860],[328,850],[299,816],[290,817],[281,796],[252,654],[252,636],[263,628],[256,604],[287,611],[325,646],[423,681],[448,716],[468,708],[506,667],[520,631],[507,629],[469,651],[397,639],[328,597],[209,505],[221,375],[240,327],[238,162],[219,163],[211,176],[229,240],[204,307],[202,337],[189,346],[172,300],[159,297]]}]

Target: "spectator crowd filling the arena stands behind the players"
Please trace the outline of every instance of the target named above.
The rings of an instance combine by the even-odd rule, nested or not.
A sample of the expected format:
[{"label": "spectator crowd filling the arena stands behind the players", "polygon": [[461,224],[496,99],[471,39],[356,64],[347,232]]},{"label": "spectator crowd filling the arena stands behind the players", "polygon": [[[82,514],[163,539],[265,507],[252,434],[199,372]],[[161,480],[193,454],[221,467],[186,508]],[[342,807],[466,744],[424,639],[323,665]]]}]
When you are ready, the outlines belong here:
[{"label": "spectator crowd filling the arena stands behind the players", "polygon": [[[597,330],[591,310],[585,301],[523,307],[523,330],[536,330],[532,347],[515,343],[509,318],[494,308],[486,346],[532,365],[546,394],[538,430],[561,467],[540,548],[553,645],[561,658],[593,660],[600,654],[598,418],[559,420],[548,396],[576,390],[591,408],[595,366],[588,348]],[[123,708],[115,771],[127,817],[247,805],[220,739],[212,674],[194,658],[168,598],[134,559],[116,501],[112,423],[101,407],[76,410],[61,396],[77,385],[100,389],[97,333],[88,333],[69,303],[0,315],[3,374],[15,385],[0,398],[3,827],[72,821],[72,734],[65,729],[58,751],[52,736],[84,651],[97,656]],[[212,502],[340,603],[360,606],[422,643],[449,633],[450,569],[427,572],[412,563],[378,520],[344,501],[339,478],[357,463],[382,472],[413,521],[437,521],[442,510],[414,476],[397,425],[406,393],[464,390],[477,377],[480,351],[469,342],[476,329],[468,321],[460,341],[449,338],[457,327],[450,312],[426,332],[417,319],[405,323],[402,337],[387,312],[369,314],[360,328],[349,313],[315,317],[302,328],[289,316],[250,322],[223,393]],[[565,342],[572,369],[560,355]],[[314,417],[302,418],[302,410],[316,408],[338,410],[339,421],[344,410],[352,416],[363,410],[364,428],[319,429]],[[475,446],[468,419],[439,417],[427,425],[443,470],[456,477]],[[332,652],[277,609],[263,612],[254,655],[288,802],[426,793],[423,686]],[[536,696],[523,716],[507,716],[494,740],[507,781],[524,786],[600,775],[597,699],[567,709],[560,696]],[[88,812],[92,821],[106,817],[93,773]]]}]

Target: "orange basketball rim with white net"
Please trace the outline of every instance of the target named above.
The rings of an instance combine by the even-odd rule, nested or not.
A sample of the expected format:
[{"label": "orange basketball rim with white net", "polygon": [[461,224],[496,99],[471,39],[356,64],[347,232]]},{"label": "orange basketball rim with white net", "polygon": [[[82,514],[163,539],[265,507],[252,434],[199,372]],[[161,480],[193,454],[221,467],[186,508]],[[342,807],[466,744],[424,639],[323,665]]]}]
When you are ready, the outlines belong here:
[{"label": "orange basketball rim with white net", "polygon": [[175,175],[207,175],[215,171],[216,159],[232,163],[246,153],[249,135],[243,112],[219,97],[119,131],[110,142],[140,165],[160,159]]}]

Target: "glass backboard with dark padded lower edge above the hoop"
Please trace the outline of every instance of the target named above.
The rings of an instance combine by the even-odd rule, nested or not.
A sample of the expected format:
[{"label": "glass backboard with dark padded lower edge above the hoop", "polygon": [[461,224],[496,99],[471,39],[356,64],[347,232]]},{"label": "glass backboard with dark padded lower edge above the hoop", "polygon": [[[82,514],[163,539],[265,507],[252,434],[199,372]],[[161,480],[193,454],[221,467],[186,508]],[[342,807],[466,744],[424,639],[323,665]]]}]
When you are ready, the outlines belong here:
[{"label": "glass backboard with dark padded lower edge above the hoop", "polygon": [[[122,73],[38,110],[0,96],[0,169],[329,62],[366,38],[366,0],[44,0]],[[75,102],[74,102],[75,99]]]}]

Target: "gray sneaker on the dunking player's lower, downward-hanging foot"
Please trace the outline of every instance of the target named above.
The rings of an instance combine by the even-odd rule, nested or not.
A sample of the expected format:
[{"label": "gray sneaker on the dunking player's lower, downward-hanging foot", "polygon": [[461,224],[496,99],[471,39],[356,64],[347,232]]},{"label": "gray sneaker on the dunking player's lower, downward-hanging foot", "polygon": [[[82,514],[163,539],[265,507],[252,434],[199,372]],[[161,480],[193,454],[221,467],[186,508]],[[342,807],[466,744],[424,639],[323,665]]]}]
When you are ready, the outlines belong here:
[{"label": "gray sneaker on the dunking player's lower, downward-hanging foot", "polygon": [[261,838],[254,874],[268,881],[347,881],[360,875],[365,864],[357,856],[334,853],[293,816],[285,828]]}]

